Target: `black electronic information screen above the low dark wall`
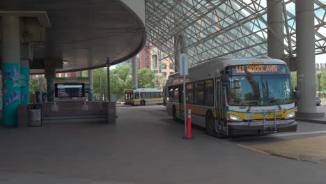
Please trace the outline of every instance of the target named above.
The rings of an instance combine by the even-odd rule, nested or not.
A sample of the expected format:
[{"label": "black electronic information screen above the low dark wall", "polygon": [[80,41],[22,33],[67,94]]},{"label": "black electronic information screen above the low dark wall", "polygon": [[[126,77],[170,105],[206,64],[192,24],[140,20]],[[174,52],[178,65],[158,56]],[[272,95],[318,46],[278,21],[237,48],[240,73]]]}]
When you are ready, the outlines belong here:
[{"label": "black electronic information screen above the low dark wall", "polygon": [[56,83],[56,98],[85,97],[84,83]]}]

